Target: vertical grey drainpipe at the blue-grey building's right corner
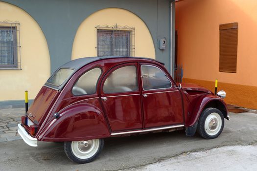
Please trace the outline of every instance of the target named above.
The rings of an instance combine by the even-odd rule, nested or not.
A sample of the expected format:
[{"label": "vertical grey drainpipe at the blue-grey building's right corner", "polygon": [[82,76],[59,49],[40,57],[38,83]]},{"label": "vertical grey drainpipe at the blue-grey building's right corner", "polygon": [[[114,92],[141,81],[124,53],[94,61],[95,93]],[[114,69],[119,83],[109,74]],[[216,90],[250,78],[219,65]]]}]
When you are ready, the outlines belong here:
[{"label": "vertical grey drainpipe at the blue-grey building's right corner", "polygon": [[170,75],[174,78],[175,62],[175,0],[170,1]]}]

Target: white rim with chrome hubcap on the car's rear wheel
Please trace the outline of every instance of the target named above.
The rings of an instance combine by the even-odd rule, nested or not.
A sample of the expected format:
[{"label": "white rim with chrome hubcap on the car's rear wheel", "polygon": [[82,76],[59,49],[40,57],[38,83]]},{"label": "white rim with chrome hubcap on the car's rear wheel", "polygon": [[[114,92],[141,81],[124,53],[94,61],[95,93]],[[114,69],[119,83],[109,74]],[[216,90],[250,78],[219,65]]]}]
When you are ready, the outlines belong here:
[{"label": "white rim with chrome hubcap on the car's rear wheel", "polygon": [[72,141],[71,150],[76,157],[80,159],[89,159],[97,152],[99,146],[99,139],[88,141]]}]

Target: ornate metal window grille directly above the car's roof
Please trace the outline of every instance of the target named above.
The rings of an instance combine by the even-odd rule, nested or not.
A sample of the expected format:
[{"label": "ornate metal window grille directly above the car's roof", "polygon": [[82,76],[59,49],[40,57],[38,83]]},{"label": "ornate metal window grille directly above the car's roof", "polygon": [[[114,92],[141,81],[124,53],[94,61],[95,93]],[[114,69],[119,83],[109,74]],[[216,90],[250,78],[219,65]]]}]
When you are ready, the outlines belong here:
[{"label": "ornate metal window grille directly above the car's roof", "polygon": [[97,56],[135,56],[135,28],[97,25]]}]

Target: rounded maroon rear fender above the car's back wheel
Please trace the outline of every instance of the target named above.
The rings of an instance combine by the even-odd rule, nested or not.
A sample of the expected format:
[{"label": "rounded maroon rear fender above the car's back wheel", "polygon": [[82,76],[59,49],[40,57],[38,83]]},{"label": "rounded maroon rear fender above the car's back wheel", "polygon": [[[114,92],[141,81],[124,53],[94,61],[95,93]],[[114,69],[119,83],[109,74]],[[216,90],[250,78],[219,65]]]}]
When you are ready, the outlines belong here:
[{"label": "rounded maroon rear fender above the car's back wheel", "polygon": [[75,104],[58,113],[38,135],[40,141],[79,141],[110,136],[102,111],[91,104]]}]

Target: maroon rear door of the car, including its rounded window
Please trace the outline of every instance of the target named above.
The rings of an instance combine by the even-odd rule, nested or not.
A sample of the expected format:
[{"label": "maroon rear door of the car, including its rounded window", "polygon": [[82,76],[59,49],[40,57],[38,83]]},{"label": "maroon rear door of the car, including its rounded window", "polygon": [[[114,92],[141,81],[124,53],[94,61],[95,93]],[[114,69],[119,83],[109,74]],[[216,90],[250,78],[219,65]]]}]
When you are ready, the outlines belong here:
[{"label": "maroon rear door of the car, including its rounded window", "polygon": [[142,128],[137,63],[118,65],[101,83],[101,103],[112,131]]}]

